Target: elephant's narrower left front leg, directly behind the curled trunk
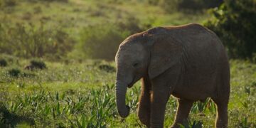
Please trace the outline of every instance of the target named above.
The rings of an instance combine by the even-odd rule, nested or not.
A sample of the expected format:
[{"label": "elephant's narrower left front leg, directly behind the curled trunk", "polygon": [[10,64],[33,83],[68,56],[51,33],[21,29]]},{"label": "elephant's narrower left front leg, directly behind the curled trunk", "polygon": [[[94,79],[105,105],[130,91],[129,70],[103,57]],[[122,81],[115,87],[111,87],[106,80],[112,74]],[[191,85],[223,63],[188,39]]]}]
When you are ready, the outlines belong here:
[{"label": "elephant's narrower left front leg, directly behind the curled trunk", "polygon": [[145,124],[146,127],[149,127],[150,119],[150,91],[151,83],[147,78],[142,80],[142,92],[139,98],[139,110],[138,116],[142,124]]}]

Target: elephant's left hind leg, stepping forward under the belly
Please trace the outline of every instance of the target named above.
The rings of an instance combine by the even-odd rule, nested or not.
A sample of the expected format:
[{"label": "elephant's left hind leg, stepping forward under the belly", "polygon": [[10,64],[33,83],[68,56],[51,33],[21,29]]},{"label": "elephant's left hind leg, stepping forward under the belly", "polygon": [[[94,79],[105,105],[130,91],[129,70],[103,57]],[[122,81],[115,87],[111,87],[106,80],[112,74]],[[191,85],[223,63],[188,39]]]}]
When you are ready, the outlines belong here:
[{"label": "elephant's left hind leg, stepping forward under the belly", "polygon": [[192,100],[178,99],[178,109],[176,112],[174,124],[171,127],[178,127],[178,124],[188,123],[188,114],[193,105]]}]

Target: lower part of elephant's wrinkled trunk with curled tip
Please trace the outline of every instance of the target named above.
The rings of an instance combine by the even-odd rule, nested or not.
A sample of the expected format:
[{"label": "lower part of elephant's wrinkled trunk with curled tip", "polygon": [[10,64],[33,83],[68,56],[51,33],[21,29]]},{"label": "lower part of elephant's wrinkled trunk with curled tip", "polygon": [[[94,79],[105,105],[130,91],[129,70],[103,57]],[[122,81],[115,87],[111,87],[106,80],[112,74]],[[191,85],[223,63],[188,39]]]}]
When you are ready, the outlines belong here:
[{"label": "lower part of elephant's wrinkled trunk with curled tip", "polygon": [[120,82],[116,83],[116,99],[117,110],[121,117],[125,118],[129,115],[129,106],[125,105],[125,95],[127,92],[127,85]]}]

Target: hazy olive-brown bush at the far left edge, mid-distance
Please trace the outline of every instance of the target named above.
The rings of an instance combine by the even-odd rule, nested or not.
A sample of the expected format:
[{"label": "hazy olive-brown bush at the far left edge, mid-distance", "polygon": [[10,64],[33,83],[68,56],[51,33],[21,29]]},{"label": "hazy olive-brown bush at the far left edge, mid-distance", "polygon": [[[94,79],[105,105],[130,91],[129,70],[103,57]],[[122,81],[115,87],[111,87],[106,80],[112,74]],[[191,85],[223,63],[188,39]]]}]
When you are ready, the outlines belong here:
[{"label": "hazy olive-brown bush at the far left edge, mid-distance", "polygon": [[18,57],[61,58],[73,49],[75,41],[61,28],[0,23],[0,53]]}]

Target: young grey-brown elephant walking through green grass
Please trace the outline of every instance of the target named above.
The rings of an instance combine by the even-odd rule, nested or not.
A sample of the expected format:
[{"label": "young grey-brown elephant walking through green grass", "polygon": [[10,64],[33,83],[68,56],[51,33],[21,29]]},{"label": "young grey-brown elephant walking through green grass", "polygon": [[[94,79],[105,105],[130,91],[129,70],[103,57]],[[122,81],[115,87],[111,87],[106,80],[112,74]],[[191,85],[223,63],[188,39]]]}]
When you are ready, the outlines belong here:
[{"label": "young grey-brown elephant walking through green grass", "polygon": [[142,80],[138,117],[146,127],[164,127],[166,103],[178,101],[171,127],[186,124],[193,102],[210,97],[216,105],[215,127],[228,127],[230,67],[218,36],[198,23],[155,27],[126,38],[115,56],[116,103],[123,118],[127,87]]}]

